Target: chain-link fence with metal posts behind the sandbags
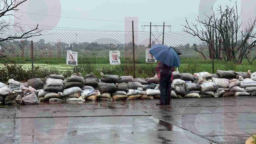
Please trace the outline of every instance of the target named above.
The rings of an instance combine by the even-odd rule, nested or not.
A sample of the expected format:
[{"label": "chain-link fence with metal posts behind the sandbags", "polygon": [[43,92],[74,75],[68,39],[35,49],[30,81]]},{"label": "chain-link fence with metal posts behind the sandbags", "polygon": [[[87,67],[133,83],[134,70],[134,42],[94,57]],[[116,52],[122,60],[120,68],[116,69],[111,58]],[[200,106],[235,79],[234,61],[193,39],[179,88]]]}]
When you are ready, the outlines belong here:
[{"label": "chain-link fence with metal posts behind the sandbags", "polygon": [[[163,33],[151,33],[151,45],[162,44]],[[133,68],[132,33],[126,32],[52,32],[25,40],[5,41],[1,43],[0,53],[7,56],[1,59],[0,81],[9,78],[16,80],[30,79],[32,76],[31,41],[33,41],[34,77],[45,77],[49,73],[61,73],[70,76],[80,72],[83,75],[100,72],[114,75],[132,75],[136,77],[152,77],[155,75],[157,63],[146,63],[146,49],[150,44],[149,32],[135,32],[135,69]],[[164,44],[179,49],[181,55],[180,72],[215,72],[217,69],[256,71],[255,49],[241,64],[228,62],[221,58],[211,60],[209,47],[197,37],[185,32],[165,32]],[[78,52],[78,66],[66,64],[67,51]],[[220,55],[225,57],[221,48]],[[120,51],[120,65],[109,64],[109,51]],[[236,54],[237,55],[237,54]],[[249,62],[250,61],[250,62]]]}]

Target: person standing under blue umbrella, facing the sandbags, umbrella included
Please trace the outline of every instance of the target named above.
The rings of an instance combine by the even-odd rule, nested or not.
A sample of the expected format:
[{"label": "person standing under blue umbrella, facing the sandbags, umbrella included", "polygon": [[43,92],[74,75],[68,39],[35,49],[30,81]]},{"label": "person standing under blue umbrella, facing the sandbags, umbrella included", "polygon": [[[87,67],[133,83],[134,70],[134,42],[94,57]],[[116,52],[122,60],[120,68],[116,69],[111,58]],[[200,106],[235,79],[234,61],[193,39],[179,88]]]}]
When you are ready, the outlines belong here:
[{"label": "person standing under blue umbrella, facing the sandbags, umbrella included", "polygon": [[171,81],[173,80],[172,72],[175,67],[180,67],[180,57],[182,53],[177,49],[168,47],[167,45],[157,44],[150,49],[150,53],[159,60],[157,66],[160,99],[157,105],[170,105],[171,101]]}]

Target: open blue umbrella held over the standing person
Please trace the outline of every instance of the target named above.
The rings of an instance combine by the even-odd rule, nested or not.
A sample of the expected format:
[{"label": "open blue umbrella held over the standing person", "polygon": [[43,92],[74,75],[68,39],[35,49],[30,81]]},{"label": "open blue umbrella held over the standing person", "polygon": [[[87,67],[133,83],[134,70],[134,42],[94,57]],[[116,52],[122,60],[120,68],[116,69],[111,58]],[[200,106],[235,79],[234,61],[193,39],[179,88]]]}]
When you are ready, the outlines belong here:
[{"label": "open blue umbrella held over the standing person", "polygon": [[178,53],[167,45],[154,45],[151,47],[149,52],[155,57],[155,59],[162,61],[168,66],[180,67],[180,57],[178,56]]}]

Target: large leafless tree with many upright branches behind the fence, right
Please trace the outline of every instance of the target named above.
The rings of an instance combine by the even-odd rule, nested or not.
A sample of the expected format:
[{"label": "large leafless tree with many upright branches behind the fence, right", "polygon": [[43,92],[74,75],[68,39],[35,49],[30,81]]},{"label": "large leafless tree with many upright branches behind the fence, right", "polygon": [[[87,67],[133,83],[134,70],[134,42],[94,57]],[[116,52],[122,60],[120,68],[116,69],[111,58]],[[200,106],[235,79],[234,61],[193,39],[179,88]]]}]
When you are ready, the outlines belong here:
[{"label": "large leafless tree with many upright branches behind the fence, right", "polygon": [[[256,20],[249,21],[244,31],[241,30],[241,15],[238,15],[237,5],[234,7],[220,5],[207,20],[197,17],[196,24],[189,23],[186,19],[184,32],[190,33],[207,43],[210,59],[225,59],[242,63],[251,49],[256,47],[256,41],[246,45],[255,38]],[[214,31],[214,32],[212,32]],[[222,53],[222,56],[221,56]]]}]

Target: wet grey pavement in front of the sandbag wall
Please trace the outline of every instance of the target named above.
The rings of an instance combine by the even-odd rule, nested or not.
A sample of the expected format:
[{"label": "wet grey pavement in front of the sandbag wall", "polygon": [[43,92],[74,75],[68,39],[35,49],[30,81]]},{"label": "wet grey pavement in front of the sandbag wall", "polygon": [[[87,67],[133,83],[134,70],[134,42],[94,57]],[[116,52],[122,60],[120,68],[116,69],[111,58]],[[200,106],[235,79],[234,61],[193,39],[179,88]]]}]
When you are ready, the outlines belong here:
[{"label": "wet grey pavement in front of the sandbag wall", "polygon": [[244,144],[256,97],[41,103],[0,108],[0,143]]}]

